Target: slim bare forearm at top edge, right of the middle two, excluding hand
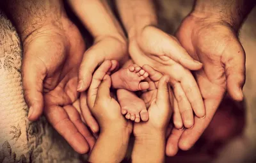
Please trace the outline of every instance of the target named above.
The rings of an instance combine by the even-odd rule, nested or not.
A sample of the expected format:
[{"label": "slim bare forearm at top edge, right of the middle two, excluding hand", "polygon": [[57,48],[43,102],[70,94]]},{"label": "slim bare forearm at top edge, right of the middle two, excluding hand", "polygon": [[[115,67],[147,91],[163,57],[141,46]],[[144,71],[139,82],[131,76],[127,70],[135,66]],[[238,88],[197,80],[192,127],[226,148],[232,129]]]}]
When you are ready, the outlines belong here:
[{"label": "slim bare forearm at top edge, right of the middle two, excluding hand", "polygon": [[153,0],[116,0],[116,7],[129,36],[146,26],[157,26]]}]

